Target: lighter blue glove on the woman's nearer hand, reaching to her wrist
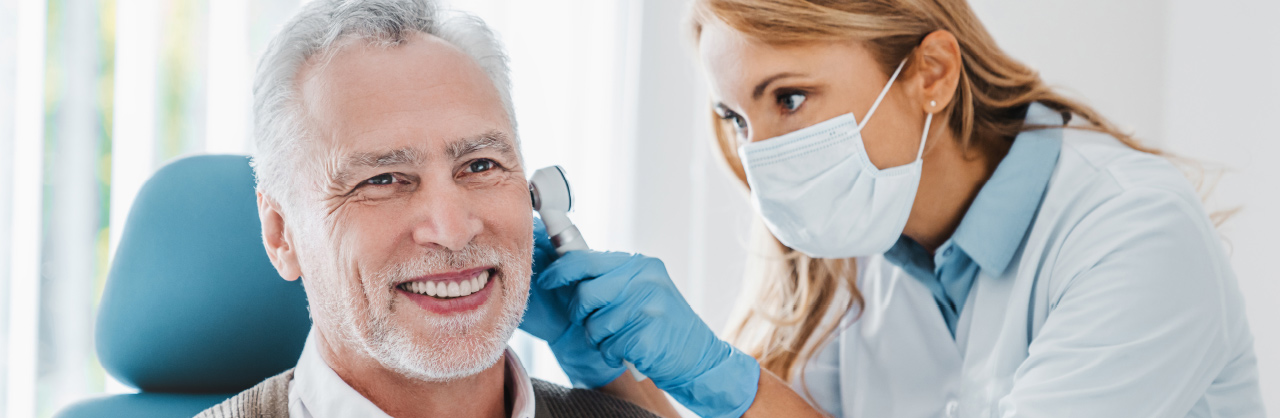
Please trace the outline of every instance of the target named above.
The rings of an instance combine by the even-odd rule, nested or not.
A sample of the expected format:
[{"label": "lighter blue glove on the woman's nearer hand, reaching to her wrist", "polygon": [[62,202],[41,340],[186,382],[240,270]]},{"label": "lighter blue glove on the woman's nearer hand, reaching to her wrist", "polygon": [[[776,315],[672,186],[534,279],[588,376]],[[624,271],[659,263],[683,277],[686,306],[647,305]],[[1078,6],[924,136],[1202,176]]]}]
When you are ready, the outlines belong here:
[{"label": "lighter blue glove on the woman's nearer hand, reaching to her wrist", "polygon": [[584,325],[608,364],[630,360],[699,415],[740,417],[755,400],[760,364],[712,332],[662,261],[573,251],[552,262],[539,284],[576,285],[570,320]]}]

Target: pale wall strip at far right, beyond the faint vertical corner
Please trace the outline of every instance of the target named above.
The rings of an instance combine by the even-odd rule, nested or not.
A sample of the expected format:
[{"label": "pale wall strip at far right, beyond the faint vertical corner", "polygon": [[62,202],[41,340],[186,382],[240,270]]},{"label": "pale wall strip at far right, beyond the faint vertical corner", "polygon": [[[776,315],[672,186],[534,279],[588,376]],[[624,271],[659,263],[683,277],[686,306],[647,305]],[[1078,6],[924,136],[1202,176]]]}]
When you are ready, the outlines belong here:
[{"label": "pale wall strip at far right, beyond the faint vertical corner", "polygon": [[1262,396],[1280,414],[1280,1],[1169,3],[1164,142],[1228,169],[1211,208],[1224,225],[1256,337]]}]

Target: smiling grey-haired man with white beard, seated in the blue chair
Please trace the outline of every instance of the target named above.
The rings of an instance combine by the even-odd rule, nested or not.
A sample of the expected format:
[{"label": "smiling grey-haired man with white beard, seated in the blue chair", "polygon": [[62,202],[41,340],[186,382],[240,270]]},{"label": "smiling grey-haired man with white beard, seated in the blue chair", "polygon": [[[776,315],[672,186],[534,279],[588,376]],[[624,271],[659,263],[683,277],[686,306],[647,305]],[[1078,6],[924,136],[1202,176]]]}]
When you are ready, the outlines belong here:
[{"label": "smiling grey-haired man with white beard, seated in the blue chair", "polygon": [[259,215],[314,326],[296,368],[201,417],[652,417],[506,348],[532,213],[506,56],[429,0],[315,0],[255,83]]}]

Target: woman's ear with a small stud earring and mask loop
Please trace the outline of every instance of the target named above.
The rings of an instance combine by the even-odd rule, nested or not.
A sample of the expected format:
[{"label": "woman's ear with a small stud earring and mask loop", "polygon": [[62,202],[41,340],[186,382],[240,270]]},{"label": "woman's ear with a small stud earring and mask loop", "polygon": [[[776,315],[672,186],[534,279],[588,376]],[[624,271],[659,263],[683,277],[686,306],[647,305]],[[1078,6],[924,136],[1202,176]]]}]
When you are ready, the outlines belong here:
[{"label": "woman's ear with a small stud earring and mask loop", "polygon": [[911,59],[911,96],[920,104],[924,112],[937,114],[955,98],[956,86],[964,60],[960,56],[960,42],[947,31],[933,31],[920,41]]}]

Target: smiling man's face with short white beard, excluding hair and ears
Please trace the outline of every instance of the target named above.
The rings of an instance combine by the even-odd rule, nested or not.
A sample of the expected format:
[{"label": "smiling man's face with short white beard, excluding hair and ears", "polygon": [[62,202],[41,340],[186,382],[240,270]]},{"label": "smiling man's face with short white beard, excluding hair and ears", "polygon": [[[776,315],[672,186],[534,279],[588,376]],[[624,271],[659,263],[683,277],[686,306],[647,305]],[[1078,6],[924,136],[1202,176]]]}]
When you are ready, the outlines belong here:
[{"label": "smiling man's face with short white beard, excluding hair and ears", "polygon": [[298,82],[312,135],[288,224],[325,340],[429,381],[493,366],[524,313],[532,252],[493,83],[428,35],[349,42]]}]

